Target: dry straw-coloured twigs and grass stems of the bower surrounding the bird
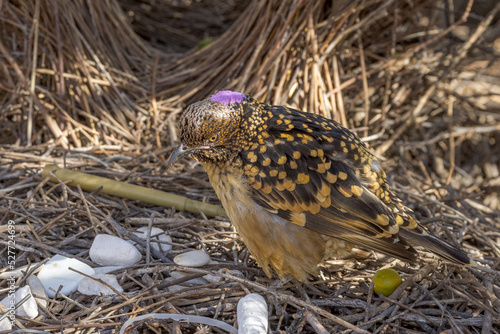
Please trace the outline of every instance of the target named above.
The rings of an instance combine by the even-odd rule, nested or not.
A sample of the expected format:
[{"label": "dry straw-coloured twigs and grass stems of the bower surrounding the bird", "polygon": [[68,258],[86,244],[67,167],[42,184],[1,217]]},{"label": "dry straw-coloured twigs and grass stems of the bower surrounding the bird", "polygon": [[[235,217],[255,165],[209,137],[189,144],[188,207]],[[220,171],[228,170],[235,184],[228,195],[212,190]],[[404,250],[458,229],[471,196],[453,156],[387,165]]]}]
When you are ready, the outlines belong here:
[{"label": "dry straw-coloured twigs and grass stems of the bower surrounding the bird", "polygon": [[[116,273],[123,295],[59,296],[16,326],[115,333],[146,313],[233,324],[250,291],[266,298],[273,333],[500,332],[500,5],[476,2],[471,10],[448,0],[0,1],[0,221],[16,223],[17,266],[54,254],[89,262],[96,234],[127,238],[145,224],[174,241],[166,256]],[[214,42],[197,50],[207,37]],[[57,164],[216,204],[200,166],[167,174],[164,161],[182,108],[219,89],[353,129],[383,154],[391,184],[421,221],[481,267],[426,256],[410,267],[366,254],[325,264],[310,284],[278,284],[225,218],[41,178]],[[220,264],[186,280],[207,272],[223,280],[169,291],[181,282],[168,280],[176,269],[168,261],[188,248]],[[405,280],[390,298],[370,287],[384,265]],[[203,332],[154,321],[134,331]]]}]

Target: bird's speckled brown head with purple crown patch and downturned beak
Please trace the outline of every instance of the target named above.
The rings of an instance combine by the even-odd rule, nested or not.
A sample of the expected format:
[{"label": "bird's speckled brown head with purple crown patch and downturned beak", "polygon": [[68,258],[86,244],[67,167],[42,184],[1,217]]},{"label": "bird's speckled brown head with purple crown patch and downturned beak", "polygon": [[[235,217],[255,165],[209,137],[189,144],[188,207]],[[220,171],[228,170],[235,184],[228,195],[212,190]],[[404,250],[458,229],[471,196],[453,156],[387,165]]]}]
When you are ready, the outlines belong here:
[{"label": "bird's speckled brown head with purple crown patch and downturned beak", "polygon": [[255,118],[249,115],[254,113],[249,105],[255,103],[243,93],[220,91],[188,106],[179,119],[181,144],[168,159],[167,168],[188,155],[209,163],[234,158],[248,142],[247,123]]}]

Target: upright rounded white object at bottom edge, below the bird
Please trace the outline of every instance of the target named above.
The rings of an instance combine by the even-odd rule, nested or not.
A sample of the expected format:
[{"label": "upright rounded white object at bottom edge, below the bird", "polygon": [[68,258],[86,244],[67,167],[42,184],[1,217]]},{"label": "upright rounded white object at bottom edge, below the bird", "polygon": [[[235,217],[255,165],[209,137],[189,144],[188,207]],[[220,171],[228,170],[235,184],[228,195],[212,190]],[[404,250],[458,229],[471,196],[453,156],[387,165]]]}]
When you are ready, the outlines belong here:
[{"label": "upright rounded white object at bottom edge, below the bird", "polygon": [[238,334],[266,334],[268,328],[267,303],[256,293],[238,302]]}]

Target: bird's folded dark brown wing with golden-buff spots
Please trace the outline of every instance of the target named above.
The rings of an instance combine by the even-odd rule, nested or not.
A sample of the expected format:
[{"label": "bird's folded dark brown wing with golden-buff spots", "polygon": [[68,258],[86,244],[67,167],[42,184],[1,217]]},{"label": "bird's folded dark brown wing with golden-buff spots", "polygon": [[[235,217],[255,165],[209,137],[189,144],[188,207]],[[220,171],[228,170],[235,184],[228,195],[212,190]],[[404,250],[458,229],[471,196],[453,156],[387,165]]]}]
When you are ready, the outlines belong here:
[{"label": "bird's folded dark brown wing with golden-buff spots", "polygon": [[271,120],[279,124],[241,157],[254,199],[290,223],[415,261],[391,209],[363,179],[369,173],[356,172],[376,161],[366,147],[332,121],[287,116]]}]

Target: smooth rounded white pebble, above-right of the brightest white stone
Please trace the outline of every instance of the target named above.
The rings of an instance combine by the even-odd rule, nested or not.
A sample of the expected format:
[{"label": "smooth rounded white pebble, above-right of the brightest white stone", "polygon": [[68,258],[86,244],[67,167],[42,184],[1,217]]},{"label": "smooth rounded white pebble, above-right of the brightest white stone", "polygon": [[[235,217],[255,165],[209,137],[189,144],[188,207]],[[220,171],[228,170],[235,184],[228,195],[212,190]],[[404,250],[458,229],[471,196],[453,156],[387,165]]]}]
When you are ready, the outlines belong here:
[{"label": "smooth rounded white pebble, above-right of the brightest white stone", "polygon": [[109,234],[96,235],[89,251],[93,262],[102,266],[131,266],[139,262],[141,253],[127,241]]}]

